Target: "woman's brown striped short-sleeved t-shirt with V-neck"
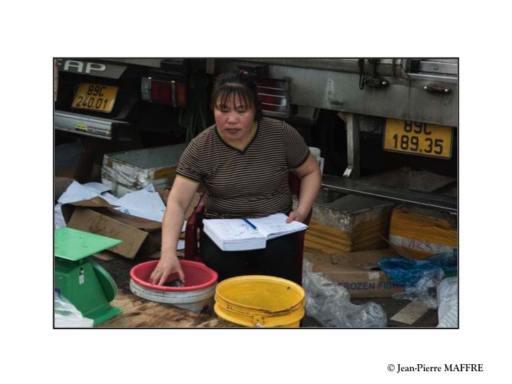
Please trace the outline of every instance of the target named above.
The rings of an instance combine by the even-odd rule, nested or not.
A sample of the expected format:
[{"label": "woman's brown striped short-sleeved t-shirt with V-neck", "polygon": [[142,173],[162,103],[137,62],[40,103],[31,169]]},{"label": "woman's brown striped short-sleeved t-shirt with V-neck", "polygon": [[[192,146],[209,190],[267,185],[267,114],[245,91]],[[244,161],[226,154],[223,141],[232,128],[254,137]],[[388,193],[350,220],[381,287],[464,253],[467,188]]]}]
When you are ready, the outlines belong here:
[{"label": "woman's brown striped short-sleeved t-shirt with V-neck", "polygon": [[207,128],[183,151],[176,173],[203,183],[206,217],[262,217],[292,210],[288,172],[308,156],[299,132],[263,117],[243,151],[227,144],[215,125]]}]

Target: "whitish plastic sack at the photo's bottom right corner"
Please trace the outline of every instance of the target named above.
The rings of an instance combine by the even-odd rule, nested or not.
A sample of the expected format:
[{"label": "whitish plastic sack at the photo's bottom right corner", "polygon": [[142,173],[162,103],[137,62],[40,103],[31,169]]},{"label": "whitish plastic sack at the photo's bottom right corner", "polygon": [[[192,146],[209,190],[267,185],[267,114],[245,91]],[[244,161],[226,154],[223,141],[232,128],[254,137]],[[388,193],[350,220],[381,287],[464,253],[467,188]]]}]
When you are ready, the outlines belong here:
[{"label": "whitish plastic sack at the photo's bottom right corner", "polygon": [[448,277],[437,286],[438,328],[457,328],[459,326],[459,287],[458,279]]}]

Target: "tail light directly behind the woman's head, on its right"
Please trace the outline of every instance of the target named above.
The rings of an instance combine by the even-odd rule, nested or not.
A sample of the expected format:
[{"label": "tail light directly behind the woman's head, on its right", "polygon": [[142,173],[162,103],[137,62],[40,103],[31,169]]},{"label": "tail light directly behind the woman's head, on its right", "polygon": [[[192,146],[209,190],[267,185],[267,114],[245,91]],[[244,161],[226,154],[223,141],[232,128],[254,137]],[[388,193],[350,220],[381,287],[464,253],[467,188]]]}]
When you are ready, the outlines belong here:
[{"label": "tail light directly behind the woman's head, on its right", "polygon": [[289,82],[286,79],[260,78],[257,95],[266,116],[289,117]]}]

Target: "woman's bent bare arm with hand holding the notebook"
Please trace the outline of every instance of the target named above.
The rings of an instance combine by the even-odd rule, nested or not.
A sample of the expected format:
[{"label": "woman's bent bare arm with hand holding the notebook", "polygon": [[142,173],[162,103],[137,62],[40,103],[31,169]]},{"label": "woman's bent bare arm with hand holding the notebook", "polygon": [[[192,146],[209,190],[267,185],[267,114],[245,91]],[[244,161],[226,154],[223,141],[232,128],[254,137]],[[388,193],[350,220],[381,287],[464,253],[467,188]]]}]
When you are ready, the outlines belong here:
[{"label": "woman's bent bare arm with hand holding the notebook", "polygon": [[302,178],[300,198],[297,209],[292,210],[288,215],[287,223],[293,220],[304,223],[306,220],[311,207],[315,201],[316,195],[318,195],[321,186],[321,174],[319,164],[316,162],[313,156],[309,154],[306,161],[302,166],[293,170],[297,176]]}]

